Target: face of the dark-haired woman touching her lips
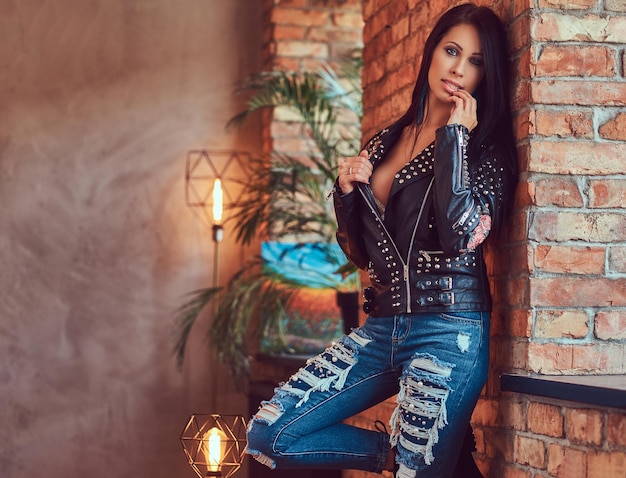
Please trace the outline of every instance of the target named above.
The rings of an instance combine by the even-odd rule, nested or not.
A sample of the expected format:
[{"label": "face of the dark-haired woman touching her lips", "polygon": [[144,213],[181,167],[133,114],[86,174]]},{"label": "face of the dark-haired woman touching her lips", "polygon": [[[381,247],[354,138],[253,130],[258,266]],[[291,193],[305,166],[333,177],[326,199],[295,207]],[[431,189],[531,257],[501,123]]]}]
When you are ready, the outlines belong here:
[{"label": "face of the dark-haired woman touching her lips", "polygon": [[473,25],[461,24],[448,30],[433,52],[428,70],[431,94],[448,103],[453,92],[473,93],[484,75],[480,37]]}]

